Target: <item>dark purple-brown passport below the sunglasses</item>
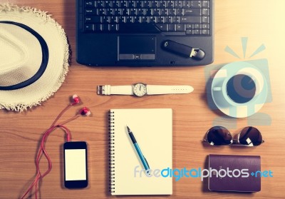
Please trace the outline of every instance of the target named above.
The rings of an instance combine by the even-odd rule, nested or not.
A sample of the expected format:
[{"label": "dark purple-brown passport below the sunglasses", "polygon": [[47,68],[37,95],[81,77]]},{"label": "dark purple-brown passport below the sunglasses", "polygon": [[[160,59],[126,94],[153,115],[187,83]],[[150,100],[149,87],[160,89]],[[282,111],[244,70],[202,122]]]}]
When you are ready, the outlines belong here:
[{"label": "dark purple-brown passport below the sunglasses", "polygon": [[[211,172],[212,170],[212,172]],[[255,155],[209,155],[209,190],[261,190],[261,160]]]}]

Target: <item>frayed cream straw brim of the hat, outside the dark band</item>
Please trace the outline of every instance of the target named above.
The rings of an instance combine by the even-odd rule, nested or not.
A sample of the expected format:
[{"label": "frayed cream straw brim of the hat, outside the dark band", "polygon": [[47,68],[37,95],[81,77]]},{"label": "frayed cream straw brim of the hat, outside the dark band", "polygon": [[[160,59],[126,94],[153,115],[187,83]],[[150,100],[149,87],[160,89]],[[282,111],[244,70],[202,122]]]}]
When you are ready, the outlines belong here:
[{"label": "frayed cream straw brim of the hat, outside the dark band", "polygon": [[25,24],[40,34],[48,45],[48,66],[37,81],[24,88],[0,91],[0,109],[24,111],[46,101],[61,87],[69,66],[66,33],[46,12],[31,7],[0,4],[0,21]]}]

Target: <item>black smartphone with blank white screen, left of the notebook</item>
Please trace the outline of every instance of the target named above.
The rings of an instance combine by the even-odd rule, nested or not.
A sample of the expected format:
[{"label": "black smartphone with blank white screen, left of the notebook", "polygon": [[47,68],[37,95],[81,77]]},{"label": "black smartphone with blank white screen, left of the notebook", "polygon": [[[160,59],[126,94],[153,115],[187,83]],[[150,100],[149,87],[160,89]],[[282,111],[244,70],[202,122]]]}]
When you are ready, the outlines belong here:
[{"label": "black smartphone with blank white screen, left of the notebook", "polygon": [[66,142],[64,150],[64,186],[66,188],[86,188],[87,174],[87,143]]}]

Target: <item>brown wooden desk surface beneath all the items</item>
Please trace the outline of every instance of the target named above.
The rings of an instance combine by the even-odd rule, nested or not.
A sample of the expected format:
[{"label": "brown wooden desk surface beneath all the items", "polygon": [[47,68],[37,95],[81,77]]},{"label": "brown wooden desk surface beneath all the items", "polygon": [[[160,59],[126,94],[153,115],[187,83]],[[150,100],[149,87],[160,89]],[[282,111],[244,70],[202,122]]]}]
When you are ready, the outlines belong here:
[{"label": "brown wooden desk surface beneath all the items", "polygon": [[[23,113],[0,111],[0,198],[19,198],[36,173],[34,164],[38,143],[59,111],[68,104],[68,97],[77,93],[84,106],[93,112],[90,118],[79,118],[68,123],[73,141],[87,141],[89,146],[89,183],[84,190],[63,188],[63,132],[55,131],[48,138],[46,148],[51,155],[53,169],[41,183],[41,198],[111,198],[108,195],[108,119],[110,108],[172,108],[173,109],[173,167],[205,168],[209,153],[261,155],[261,169],[272,170],[273,178],[262,178],[261,192],[254,194],[214,193],[207,184],[196,178],[173,181],[173,194],[167,198],[284,198],[285,179],[285,1],[216,0],[214,27],[214,63],[267,58],[273,101],[266,103],[261,113],[271,117],[271,126],[257,126],[265,143],[256,148],[202,145],[206,131],[218,116],[207,106],[204,68],[88,68],[76,63],[75,1],[70,0],[10,0],[14,4],[33,6],[49,11],[66,29],[73,57],[63,86],[42,106]],[[0,2],[6,2],[1,0]],[[248,37],[247,56],[243,58],[241,37]],[[261,44],[266,50],[248,58]],[[224,51],[230,46],[241,59]],[[195,91],[187,95],[98,96],[101,84],[128,85],[136,82],[149,84],[188,84]],[[1,97],[1,96],[0,96]],[[75,114],[71,108],[63,119]],[[237,119],[232,133],[247,126],[248,118]],[[43,168],[45,164],[43,163]],[[124,198],[124,197],[118,197]],[[126,197],[133,198],[133,197]],[[135,197],[134,197],[135,198]],[[138,198],[147,198],[138,197]],[[165,198],[150,196],[149,198]]]}]

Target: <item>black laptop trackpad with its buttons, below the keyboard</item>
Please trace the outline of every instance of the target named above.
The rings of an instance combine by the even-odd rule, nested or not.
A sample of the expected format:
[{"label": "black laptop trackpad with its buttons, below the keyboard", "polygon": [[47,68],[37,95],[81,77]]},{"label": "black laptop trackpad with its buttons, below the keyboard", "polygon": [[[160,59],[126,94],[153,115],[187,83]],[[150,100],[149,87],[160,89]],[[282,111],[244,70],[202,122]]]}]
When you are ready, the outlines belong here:
[{"label": "black laptop trackpad with its buttons, below the keyboard", "polygon": [[118,58],[155,61],[155,36],[118,36]]}]

